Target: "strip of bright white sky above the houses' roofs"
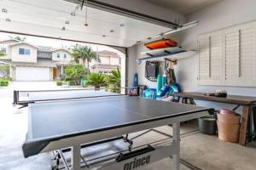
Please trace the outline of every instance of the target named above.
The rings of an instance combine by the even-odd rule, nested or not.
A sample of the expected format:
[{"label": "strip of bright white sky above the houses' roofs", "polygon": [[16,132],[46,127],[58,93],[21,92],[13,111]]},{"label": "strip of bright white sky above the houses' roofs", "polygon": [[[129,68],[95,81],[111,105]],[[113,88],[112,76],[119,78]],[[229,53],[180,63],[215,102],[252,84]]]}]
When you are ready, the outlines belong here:
[{"label": "strip of bright white sky above the houses' roofs", "polygon": [[102,50],[108,50],[113,51],[119,56],[123,57],[124,54],[119,52],[119,50],[116,50],[114,48],[110,48],[108,46],[104,45],[96,45],[96,44],[90,44],[90,43],[81,43],[81,42],[69,42],[69,41],[63,41],[63,40],[55,40],[50,38],[44,38],[44,37],[30,37],[30,36],[22,36],[17,34],[9,34],[9,33],[0,33],[0,41],[10,39],[11,37],[26,37],[26,42],[30,42],[36,46],[46,46],[51,48],[72,48],[76,44],[80,45],[88,45],[91,48],[93,48],[95,51],[102,51]]}]

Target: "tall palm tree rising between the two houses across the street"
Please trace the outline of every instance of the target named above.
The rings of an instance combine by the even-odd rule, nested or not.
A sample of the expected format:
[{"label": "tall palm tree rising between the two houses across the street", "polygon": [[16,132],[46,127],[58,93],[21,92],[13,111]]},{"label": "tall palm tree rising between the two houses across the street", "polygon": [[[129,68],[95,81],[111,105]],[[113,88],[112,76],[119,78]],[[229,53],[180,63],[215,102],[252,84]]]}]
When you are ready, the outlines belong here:
[{"label": "tall palm tree rising between the two houses across the street", "polygon": [[79,59],[83,60],[83,65],[85,66],[85,62],[87,64],[86,68],[89,71],[89,63],[92,59],[96,59],[96,51],[94,51],[89,46],[81,46],[76,44],[73,48],[72,56],[76,62],[79,62]]}]

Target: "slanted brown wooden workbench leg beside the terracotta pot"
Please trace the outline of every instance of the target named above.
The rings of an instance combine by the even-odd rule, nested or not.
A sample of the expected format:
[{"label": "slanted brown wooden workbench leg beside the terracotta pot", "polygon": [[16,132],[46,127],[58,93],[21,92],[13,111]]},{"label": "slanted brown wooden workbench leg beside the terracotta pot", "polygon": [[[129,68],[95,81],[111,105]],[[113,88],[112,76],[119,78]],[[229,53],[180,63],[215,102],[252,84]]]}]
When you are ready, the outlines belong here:
[{"label": "slanted brown wooden workbench leg beside the terracotta pot", "polygon": [[242,116],[241,116],[241,127],[239,134],[239,144],[245,145],[247,140],[247,122],[249,116],[250,106],[243,105],[242,106]]}]

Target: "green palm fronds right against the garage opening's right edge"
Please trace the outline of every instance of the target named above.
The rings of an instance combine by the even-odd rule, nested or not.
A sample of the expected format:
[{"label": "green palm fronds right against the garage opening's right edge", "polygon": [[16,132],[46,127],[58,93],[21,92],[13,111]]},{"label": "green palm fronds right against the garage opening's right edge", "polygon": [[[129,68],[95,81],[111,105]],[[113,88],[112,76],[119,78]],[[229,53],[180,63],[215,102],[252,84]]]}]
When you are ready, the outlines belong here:
[{"label": "green palm fronds right against the garage opening's right edge", "polygon": [[111,75],[106,77],[106,82],[108,82],[108,90],[114,93],[120,93],[121,73],[119,68],[111,71]]}]

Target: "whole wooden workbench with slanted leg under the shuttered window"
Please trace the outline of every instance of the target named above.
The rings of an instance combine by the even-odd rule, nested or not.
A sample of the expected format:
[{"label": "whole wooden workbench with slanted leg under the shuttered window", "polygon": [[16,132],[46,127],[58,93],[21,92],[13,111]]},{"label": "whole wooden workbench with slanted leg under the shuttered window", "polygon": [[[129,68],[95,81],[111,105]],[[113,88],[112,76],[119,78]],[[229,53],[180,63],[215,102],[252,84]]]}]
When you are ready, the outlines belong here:
[{"label": "whole wooden workbench with slanted leg under the shuttered window", "polygon": [[[245,145],[247,139],[251,141],[255,133],[253,127],[256,127],[256,97],[228,95],[227,97],[208,96],[207,93],[187,92],[180,94],[173,94],[173,96],[180,97],[183,103],[195,105],[194,99],[212,101],[218,103],[236,105],[234,111],[238,107],[242,107],[241,127],[239,144]],[[255,129],[254,129],[255,131]]]}]

